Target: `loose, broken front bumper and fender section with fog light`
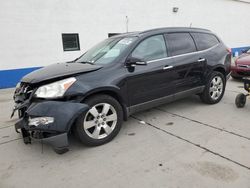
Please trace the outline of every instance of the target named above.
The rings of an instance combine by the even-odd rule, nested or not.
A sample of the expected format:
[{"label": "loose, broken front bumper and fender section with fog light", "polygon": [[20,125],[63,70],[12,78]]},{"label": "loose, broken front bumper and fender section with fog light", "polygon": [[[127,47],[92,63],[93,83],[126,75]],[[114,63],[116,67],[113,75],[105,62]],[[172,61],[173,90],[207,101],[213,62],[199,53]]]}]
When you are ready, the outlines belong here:
[{"label": "loose, broken front bumper and fender section with fog light", "polygon": [[[89,109],[88,105],[64,101],[32,103],[24,116],[15,124],[21,130],[24,143],[31,138],[50,144],[54,151],[68,151],[68,133],[76,118]],[[49,120],[49,121],[48,121]]]}]

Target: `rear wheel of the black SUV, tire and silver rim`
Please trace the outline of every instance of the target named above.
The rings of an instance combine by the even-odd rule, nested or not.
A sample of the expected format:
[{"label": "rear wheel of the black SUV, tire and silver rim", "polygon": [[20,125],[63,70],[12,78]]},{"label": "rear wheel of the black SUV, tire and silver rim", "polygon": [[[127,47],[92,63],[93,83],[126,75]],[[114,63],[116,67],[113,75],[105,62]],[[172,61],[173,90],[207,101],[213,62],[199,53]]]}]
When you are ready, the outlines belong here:
[{"label": "rear wheel of the black SUV, tire and silver rim", "polygon": [[216,104],[220,102],[225,93],[225,86],[225,76],[217,71],[212,72],[204,91],[200,94],[201,100],[206,104]]}]

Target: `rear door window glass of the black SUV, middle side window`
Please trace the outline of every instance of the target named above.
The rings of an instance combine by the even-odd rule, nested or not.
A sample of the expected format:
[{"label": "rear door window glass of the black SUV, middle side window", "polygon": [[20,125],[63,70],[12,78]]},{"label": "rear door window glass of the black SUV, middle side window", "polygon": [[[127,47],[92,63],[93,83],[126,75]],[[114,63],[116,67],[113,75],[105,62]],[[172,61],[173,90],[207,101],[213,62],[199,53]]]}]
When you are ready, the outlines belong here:
[{"label": "rear door window glass of the black SUV, middle side window", "polygon": [[196,51],[194,40],[189,33],[166,34],[168,53],[171,56]]}]

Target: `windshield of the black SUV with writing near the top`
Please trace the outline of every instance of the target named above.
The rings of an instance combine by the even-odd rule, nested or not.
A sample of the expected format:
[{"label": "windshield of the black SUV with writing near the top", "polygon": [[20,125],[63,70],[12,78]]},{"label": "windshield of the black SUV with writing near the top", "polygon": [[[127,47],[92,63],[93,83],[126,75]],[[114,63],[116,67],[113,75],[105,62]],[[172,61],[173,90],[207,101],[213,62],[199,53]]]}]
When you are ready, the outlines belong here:
[{"label": "windshield of the black SUV with writing near the top", "polygon": [[108,38],[91,48],[75,62],[93,64],[111,63],[135,40],[136,37]]}]

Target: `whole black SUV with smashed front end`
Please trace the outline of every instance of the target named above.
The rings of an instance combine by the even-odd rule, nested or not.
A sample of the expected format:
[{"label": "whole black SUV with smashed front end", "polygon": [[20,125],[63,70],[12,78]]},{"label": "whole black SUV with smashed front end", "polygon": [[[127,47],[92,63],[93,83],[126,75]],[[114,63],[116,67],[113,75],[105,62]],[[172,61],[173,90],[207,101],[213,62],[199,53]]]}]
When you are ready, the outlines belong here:
[{"label": "whole black SUV with smashed front end", "polygon": [[83,144],[112,140],[132,113],[192,94],[208,104],[223,97],[231,55],[211,31],[160,28],[117,35],[72,62],[22,78],[16,123],[31,138],[68,150],[72,130]]}]

